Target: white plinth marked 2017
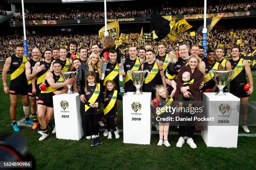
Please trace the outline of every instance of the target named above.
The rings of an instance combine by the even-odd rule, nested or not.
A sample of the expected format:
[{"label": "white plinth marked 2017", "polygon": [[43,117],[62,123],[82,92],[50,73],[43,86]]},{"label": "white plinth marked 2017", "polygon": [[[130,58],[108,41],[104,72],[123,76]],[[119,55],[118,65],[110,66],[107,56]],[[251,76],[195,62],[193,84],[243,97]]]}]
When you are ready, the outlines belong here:
[{"label": "white plinth marked 2017", "polygon": [[[63,107],[62,103],[68,103]],[[78,93],[53,96],[56,138],[79,140],[84,135]],[[61,107],[62,106],[62,107]]]}]

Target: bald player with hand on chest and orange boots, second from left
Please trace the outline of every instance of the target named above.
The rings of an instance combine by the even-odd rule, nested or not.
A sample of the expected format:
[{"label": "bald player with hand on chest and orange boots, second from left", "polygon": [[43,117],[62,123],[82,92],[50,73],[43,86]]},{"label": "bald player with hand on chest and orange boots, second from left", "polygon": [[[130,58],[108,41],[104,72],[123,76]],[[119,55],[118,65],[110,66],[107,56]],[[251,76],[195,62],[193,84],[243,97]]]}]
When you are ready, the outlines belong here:
[{"label": "bald player with hand on chest and orange boots, second from left", "polygon": [[44,65],[39,66],[36,72],[33,72],[33,67],[36,65],[36,62],[40,60],[40,51],[38,50],[38,48],[34,48],[32,50],[32,57],[33,58],[31,60],[26,62],[25,73],[28,80],[28,96],[31,101],[31,113],[34,122],[32,129],[36,129],[38,125],[38,122],[36,120],[36,93],[33,93],[32,79],[36,77],[38,72],[41,72],[44,69]]}]

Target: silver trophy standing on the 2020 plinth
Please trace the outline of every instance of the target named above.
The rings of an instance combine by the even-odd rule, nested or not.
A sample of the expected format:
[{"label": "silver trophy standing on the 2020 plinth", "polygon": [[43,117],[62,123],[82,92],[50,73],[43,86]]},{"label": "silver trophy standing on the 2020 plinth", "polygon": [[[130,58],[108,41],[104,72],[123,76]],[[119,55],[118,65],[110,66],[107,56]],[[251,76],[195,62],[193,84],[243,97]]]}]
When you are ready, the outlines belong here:
[{"label": "silver trophy standing on the 2020 plinth", "polygon": [[[230,72],[231,75],[230,75]],[[213,77],[212,77],[213,73]],[[212,77],[212,80],[215,81],[216,86],[219,88],[218,92],[215,95],[225,95],[223,88],[228,84],[228,81],[233,77],[234,70],[210,70],[209,75]],[[230,77],[229,77],[230,75]]]}]

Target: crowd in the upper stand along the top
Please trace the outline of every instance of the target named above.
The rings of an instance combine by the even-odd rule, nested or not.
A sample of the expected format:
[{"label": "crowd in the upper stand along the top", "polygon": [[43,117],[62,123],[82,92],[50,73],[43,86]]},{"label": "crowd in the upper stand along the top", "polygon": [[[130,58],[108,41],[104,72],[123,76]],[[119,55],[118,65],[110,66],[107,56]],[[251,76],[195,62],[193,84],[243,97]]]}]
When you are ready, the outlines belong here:
[{"label": "crowd in the upper stand along the top", "polygon": [[[233,4],[220,4],[207,6],[207,13],[224,13],[236,11],[249,11],[256,9],[256,2],[241,2]],[[63,12],[65,11],[65,12]],[[145,10],[108,10],[107,18],[129,18],[150,17],[151,13],[159,12],[161,15],[188,15],[202,14],[204,7],[165,7],[160,9],[148,8]],[[25,15],[26,20],[80,20],[80,19],[102,19],[104,10],[54,10],[54,13],[41,12],[40,10],[29,10]],[[15,20],[22,20],[20,14]]]}]

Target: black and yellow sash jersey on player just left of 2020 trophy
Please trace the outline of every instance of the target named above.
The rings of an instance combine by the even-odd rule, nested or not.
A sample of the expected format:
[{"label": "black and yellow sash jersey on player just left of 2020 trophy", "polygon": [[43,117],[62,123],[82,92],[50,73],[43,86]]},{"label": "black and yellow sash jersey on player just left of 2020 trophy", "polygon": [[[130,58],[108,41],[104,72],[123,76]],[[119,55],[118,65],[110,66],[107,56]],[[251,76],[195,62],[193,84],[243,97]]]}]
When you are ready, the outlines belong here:
[{"label": "black and yellow sash jersey on player just left of 2020 trophy", "polygon": [[211,74],[212,77],[210,77],[209,71],[210,70],[218,70],[220,63],[215,61],[213,64],[209,64],[208,61],[205,62],[205,78],[204,78],[204,83],[205,86],[207,86],[208,88],[212,88],[215,85],[215,81],[212,80],[212,77],[214,77],[213,73]]}]

